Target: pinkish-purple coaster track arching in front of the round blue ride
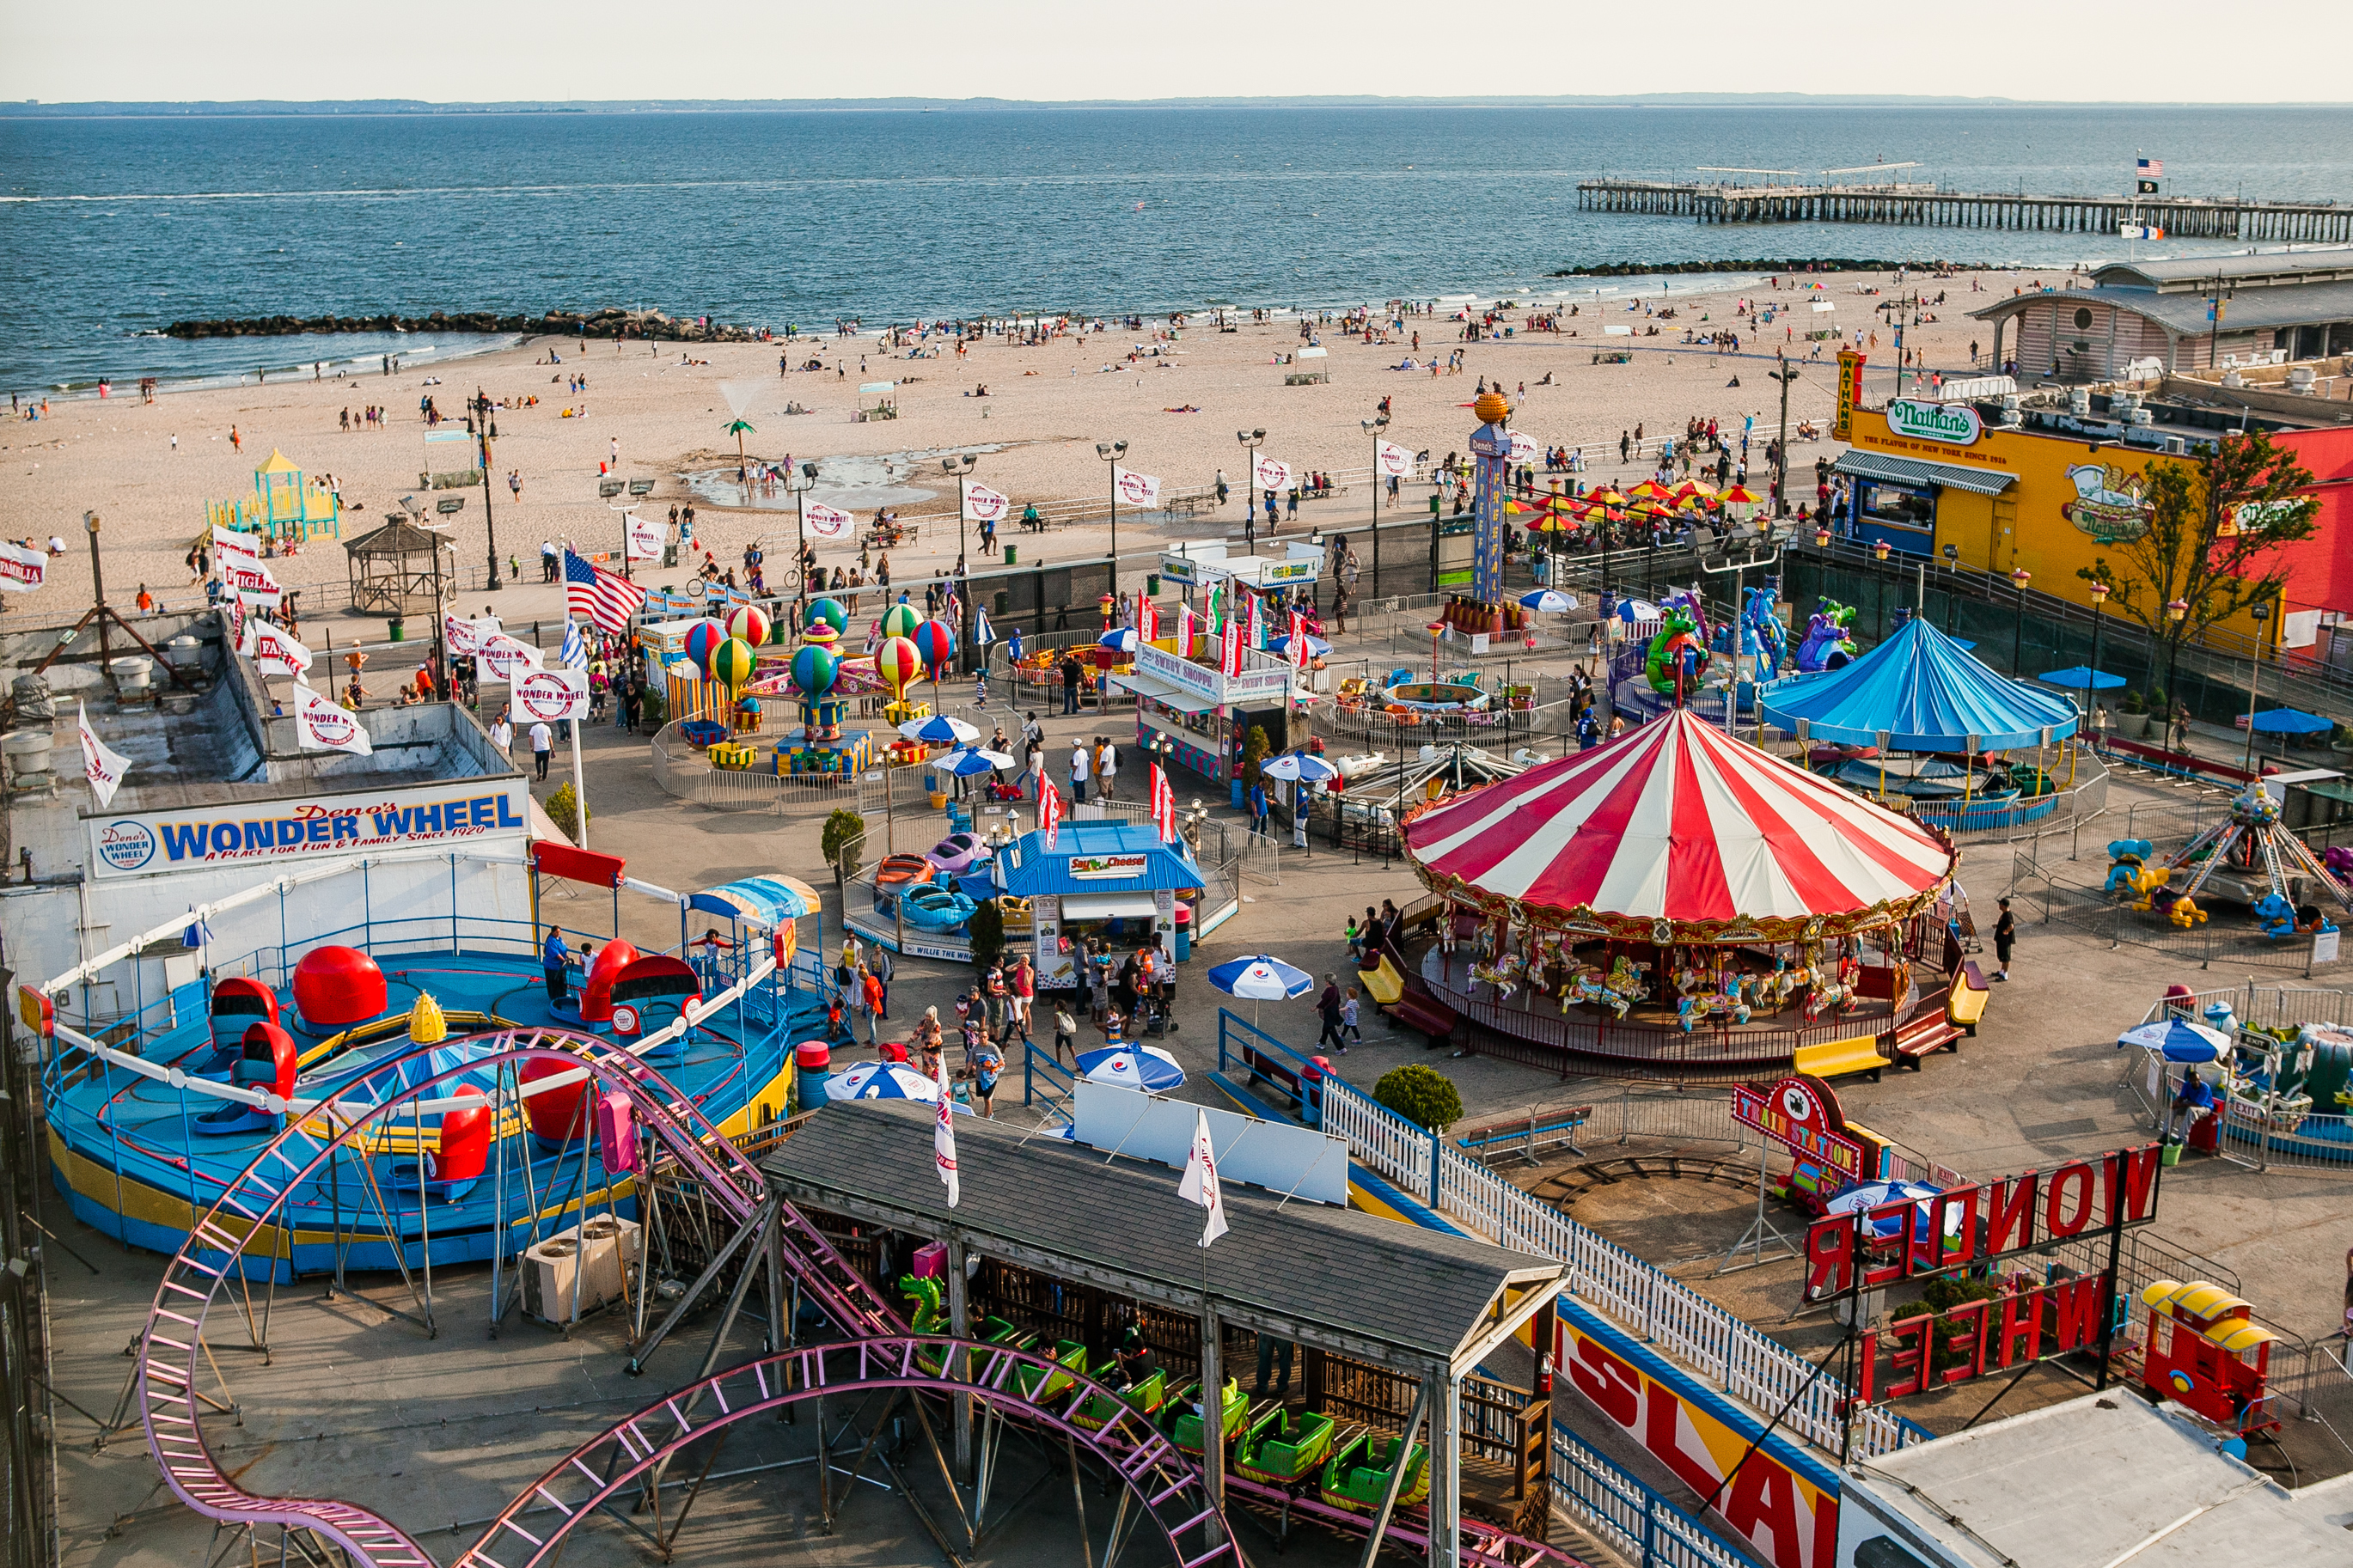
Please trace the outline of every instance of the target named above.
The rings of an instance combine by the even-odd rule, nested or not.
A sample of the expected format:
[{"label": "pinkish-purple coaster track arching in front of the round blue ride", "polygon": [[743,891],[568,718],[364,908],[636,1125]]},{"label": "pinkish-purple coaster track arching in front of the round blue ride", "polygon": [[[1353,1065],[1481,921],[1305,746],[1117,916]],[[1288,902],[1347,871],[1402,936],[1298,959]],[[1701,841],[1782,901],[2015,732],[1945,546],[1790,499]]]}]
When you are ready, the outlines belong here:
[{"label": "pinkish-purple coaster track arching in front of the round blue ride", "polygon": [[[296,1187],[313,1180],[339,1150],[365,1147],[369,1128],[398,1110],[454,1107],[456,1100],[442,1105],[424,1100],[426,1091],[445,1079],[480,1067],[504,1070],[553,1060],[586,1072],[598,1093],[628,1095],[638,1126],[652,1133],[661,1152],[685,1166],[711,1192],[713,1201],[739,1222],[769,1201],[760,1171],[678,1088],[612,1041],[569,1030],[518,1030],[501,1034],[494,1051],[482,1058],[402,1086],[400,1070],[428,1058],[435,1048],[416,1046],[391,1056],[346,1086],[346,1093],[362,1084],[376,1088],[381,1103],[351,1107],[348,1119],[341,1107],[320,1107],[304,1121],[289,1121],[191,1227],[188,1241],[162,1272],[136,1347],[139,1408],[148,1450],[181,1502],[216,1523],[275,1523],[289,1530],[313,1530],[367,1568],[431,1568],[433,1556],[400,1526],[362,1507],[247,1493],[221,1469],[198,1420],[195,1378],[198,1361],[207,1354],[205,1314],[221,1295],[224,1284],[242,1274],[249,1241],[264,1229],[273,1229],[273,1218]],[[574,1081],[569,1074],[555,1074],[536,1079],[527,1088],[536,1093]],[[329,1131],[325,1138],[308,1131],[320,1117]],[[781,1201],[779,1225],[788,1237],[788,1246],[781,1248],[786,1265],[800,1276],[802,1291],[835,1324],[864,1338],[904,1333],[882,1295],[859,1279],[814,1225],[807,1225]]]}]

